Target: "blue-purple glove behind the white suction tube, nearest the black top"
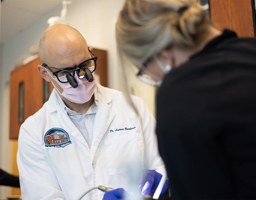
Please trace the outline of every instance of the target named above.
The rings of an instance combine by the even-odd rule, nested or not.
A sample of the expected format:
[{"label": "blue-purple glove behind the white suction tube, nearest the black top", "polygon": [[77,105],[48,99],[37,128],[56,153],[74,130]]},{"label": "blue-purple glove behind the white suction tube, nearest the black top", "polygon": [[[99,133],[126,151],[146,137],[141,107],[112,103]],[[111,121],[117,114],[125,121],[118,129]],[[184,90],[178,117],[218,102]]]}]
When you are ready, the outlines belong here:
[{"label": "blue-purple glove behind the white suction tube, nearest the black top", "polygon": [[[158,173],[156,170],[146,169],[140,174],[139,179],[139,189],[142,195],[153,195],[156,188],[162,178],[162,174]],[[169,181],[166,179],[160,196],[169,189]]]}]

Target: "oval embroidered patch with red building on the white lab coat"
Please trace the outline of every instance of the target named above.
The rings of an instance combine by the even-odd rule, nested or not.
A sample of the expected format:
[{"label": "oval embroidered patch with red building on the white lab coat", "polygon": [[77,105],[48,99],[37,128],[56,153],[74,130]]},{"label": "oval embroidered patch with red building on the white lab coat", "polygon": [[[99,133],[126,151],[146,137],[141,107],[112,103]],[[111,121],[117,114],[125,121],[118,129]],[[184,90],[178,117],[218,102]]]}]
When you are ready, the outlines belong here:
[{"label": "oval embroidered patch with red building on the white lab coat", "polygon": [[71,144],[69,134],[61,128],[52,128],[44,135],[44,143],[46,147],[65,147]]}]

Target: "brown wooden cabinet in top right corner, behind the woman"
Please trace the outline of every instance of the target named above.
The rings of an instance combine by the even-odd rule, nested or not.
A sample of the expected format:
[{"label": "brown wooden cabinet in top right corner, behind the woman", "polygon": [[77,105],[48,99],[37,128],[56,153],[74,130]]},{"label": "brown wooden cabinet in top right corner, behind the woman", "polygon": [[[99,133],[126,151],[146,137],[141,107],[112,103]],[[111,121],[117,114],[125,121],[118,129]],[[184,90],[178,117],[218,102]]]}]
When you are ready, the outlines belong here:
[{"label": "brown wooden cabinet in top right corner, behind the woman", "polygon": [[212,22],[219,30],[229,28],[239,37],[254,37],[252,5],[251,0],[210,0]]}]

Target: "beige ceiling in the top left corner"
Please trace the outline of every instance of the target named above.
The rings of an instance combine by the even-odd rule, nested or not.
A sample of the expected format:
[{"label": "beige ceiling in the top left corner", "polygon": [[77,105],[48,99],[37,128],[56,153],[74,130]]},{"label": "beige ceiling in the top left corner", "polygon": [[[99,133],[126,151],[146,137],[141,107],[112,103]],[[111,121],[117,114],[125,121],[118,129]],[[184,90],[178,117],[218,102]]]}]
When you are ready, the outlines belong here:
[{"label": "beige ceiling in the top left corner", "polygon": [[24,30],[62,0],[1,0],[0,43]]}]

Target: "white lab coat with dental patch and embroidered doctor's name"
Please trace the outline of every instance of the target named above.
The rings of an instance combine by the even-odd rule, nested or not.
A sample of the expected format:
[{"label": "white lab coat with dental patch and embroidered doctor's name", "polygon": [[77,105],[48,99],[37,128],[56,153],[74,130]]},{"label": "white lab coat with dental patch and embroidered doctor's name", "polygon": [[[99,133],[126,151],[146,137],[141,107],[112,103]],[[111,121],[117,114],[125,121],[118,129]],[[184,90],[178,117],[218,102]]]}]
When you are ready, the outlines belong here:
[{"label": "white lab coat with dental patch and embroidered doctor's name", "polygon": [[[94,185],[125,188],[127,168],[123,161],[136,156],[145,169],[165,172],[157,148],[155,119],[142,99],[132,96],[141,122],[122,92],[99,84],[97,89],[99,104],[91,149],[54,92],[21,125],[17,164],[23,200],[76,200]],[[46,147],[44,135],[51,128],[64,129],[71,144]],[[94,190],[83,200],[102,199],[103,195]]]}]

